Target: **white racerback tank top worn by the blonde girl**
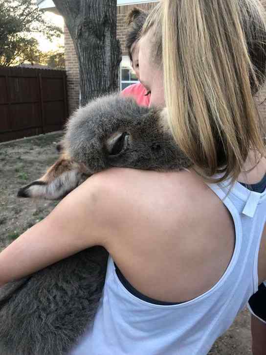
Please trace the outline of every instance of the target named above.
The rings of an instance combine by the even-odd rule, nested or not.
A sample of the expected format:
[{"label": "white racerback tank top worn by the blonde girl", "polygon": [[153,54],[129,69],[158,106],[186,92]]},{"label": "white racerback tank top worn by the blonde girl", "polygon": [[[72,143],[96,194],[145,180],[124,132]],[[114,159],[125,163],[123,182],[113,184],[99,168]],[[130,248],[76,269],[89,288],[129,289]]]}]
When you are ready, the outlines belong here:
[{"label": "white racerback tank top worn by the blonde girl", "polygon": [[191,301],[155,305],[133,296],[121,284],[109,257],[94,324],[71,355],[204,355],[231,326],[258,290],[266,190],[253,192],[239,183],[229,190],[226,182],[210,188],[222,199],[235,224],[234,253],[219,282]]}]

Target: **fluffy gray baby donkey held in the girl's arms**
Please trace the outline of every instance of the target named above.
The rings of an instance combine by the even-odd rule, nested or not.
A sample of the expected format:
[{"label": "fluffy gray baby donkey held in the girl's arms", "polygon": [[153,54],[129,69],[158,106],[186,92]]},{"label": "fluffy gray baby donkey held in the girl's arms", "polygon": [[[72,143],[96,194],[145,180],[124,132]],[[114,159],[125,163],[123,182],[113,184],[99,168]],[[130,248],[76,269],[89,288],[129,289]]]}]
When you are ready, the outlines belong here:
[{"label": "fluffy gray baby donkey held in the girl's arms", "polygon": [[[108,167],[173,170],[190,166],[165,110],[111,95],[69,119],[60,159],[18,195],[57,199]],[[93,321],[108,253],[88,248],[0,288],[0,355],[69,354]],[[89,351],[88,351],[89,353]]]}]

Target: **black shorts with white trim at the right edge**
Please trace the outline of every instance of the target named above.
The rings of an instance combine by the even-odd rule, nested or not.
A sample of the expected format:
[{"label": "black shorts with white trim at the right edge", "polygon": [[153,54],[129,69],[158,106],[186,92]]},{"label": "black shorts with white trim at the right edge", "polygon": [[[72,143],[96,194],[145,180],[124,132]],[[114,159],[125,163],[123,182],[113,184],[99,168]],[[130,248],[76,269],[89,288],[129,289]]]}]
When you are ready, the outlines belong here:
[{"label": "black shorts with white trim at the right edge", "polygon": [[259,285],[259,289],[248,300],[247,308],[250,312],[266,324],[266,281]]}]

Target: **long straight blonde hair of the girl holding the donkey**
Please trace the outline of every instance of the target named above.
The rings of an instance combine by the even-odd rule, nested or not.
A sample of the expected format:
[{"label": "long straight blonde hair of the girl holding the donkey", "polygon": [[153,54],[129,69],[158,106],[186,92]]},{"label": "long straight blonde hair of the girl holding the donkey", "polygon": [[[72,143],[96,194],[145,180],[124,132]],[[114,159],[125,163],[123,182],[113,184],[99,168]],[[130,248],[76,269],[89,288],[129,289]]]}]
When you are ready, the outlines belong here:
[{"label": "long straight blonde hair of the girl holding the donkey", "polygon": [[164,0],[155,11],[143,32],[162,33],[172,134],[203,178],[234,181],[250,149],[265,154],[253,97],[265,80],[264,8],[258,0]]}]

